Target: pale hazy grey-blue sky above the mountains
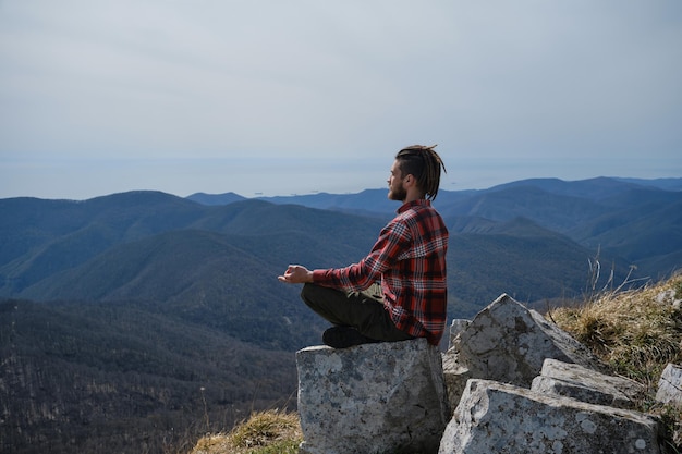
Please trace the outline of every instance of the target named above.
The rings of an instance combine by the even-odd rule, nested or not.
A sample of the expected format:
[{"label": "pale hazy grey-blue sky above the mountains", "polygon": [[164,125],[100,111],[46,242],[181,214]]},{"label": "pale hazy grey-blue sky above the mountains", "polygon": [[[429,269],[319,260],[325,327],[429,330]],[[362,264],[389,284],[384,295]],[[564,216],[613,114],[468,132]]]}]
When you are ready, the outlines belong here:
[{"label": "pale hazy grey-blue sky above the mountains", "polygon": [[0,0],[0,198],[682,176],[680,0]]}]

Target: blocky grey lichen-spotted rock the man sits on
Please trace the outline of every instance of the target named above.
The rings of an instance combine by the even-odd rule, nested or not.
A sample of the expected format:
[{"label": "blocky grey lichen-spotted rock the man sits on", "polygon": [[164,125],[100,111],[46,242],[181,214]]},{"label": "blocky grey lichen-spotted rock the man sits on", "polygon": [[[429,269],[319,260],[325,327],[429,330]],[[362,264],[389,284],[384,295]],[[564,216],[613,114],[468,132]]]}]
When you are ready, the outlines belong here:
[{"label": "blocky grey lichen-spotted rock the man sits on", "polygon": [[442,360],[424,339],[296,353],[301,453],[436,453],[450,420]]}]

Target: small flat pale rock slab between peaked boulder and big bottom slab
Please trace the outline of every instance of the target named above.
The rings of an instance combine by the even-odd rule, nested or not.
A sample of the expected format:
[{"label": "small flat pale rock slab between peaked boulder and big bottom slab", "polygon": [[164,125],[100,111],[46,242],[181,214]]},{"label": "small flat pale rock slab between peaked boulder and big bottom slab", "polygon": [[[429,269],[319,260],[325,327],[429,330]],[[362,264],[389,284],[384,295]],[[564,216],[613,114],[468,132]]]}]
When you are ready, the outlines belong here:
[{"label": "small flat pale rock slab between peaked boulder and big bottom slab", "polygon": [[643,384],[622,377],[596,372],[576,364],[545,359],[531,390],[576,398],[588,404],[634,408],[646,395]]}]

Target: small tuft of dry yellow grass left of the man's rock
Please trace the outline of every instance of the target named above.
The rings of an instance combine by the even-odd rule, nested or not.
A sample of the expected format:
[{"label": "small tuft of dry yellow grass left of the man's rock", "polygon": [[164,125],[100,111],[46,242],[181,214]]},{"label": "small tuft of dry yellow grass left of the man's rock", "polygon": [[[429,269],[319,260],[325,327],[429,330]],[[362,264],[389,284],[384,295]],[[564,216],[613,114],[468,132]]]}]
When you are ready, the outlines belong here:
[{"label": "small tuft of dry yellow grass left of the man's rock", "polygon": [[230,433],[199,439],[190,454],[295,454],[302,441],[297,414],[267,410],[254,413]]}]

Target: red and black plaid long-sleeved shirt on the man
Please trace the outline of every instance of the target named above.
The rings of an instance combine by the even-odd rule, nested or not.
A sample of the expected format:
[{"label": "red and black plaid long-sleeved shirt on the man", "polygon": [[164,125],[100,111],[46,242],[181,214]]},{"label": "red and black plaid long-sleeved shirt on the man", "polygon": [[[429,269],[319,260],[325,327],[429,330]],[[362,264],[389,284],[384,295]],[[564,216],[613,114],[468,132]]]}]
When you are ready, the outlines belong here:
[{"label": "red and black plaid long-sleeved shirt on the man", "polygon": [[383,307],[395,326],[438,345],[446,329],[448,229],[429,200],[404,204],[372,251],[345,268],[315,270],[316,284],[360,292],[381,280]]}]

